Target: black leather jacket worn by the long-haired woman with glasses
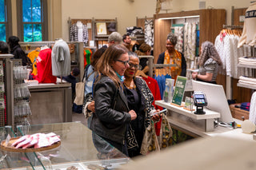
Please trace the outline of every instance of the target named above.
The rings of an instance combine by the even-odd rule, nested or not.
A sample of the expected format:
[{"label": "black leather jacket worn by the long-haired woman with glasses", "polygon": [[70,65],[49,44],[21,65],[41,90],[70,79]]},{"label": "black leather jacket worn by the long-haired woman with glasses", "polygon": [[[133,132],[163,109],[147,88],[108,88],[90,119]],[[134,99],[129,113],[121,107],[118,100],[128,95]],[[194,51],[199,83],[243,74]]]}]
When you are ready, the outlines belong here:
[{"label": "black leather jacket worn by the long-haired woman with glasses", "polygon": [[95,114],[90,129],[99,136],[120,144],[125,140],[130,114],[126,96],[110,77],[101,77],[94,84]]}]

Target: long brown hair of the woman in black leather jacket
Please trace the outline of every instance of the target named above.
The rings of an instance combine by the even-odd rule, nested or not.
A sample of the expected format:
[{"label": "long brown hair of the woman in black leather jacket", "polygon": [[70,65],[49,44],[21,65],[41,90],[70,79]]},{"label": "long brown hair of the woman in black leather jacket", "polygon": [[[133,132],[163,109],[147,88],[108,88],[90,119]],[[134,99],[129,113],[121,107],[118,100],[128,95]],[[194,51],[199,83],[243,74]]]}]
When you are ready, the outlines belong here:
[{"label": "long brown hair of the woman in black leather jacket", "polygon": [[123,54],[128,53],[128,49],[124,45],[114,44],[110,45],[105,53],[102,54],[94,66],[94,70],[98,72],[98,80],[102,75],[110,77],[114,83],[119,86],[120,80],[115,73],[114,69],[111,67],[113,61],[118,60],[118,58]]}]

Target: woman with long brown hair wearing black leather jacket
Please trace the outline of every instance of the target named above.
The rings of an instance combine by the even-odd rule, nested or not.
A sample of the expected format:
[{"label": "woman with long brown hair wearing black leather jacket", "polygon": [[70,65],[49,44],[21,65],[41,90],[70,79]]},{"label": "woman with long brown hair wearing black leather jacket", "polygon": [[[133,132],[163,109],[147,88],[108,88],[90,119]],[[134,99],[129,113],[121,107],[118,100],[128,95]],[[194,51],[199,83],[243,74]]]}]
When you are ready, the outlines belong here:
[{"label": "woman with long brown hair wearing black leather jacket", "polygon": [[126,127],[137,117],[134,110],[129,111],[121,83],[128,67],[128,50],[123,45],[111,45],[98,60],[94,67],[98,72],[93,85],[95,113],[90,124],[92,131],[126,155]]}]

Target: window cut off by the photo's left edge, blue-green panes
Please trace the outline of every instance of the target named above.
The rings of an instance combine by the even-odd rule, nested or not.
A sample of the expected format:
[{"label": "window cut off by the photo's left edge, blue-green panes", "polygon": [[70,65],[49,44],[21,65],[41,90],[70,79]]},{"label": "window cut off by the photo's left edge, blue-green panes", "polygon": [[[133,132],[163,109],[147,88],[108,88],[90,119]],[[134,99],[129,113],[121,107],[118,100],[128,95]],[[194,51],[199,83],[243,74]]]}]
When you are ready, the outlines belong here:
[{"label": "window cut off by the photo's left edge, blue-green panes", "polygon": [[11,34],[10,30],[10,1],[0,0],[0,41],[6,42]]}]

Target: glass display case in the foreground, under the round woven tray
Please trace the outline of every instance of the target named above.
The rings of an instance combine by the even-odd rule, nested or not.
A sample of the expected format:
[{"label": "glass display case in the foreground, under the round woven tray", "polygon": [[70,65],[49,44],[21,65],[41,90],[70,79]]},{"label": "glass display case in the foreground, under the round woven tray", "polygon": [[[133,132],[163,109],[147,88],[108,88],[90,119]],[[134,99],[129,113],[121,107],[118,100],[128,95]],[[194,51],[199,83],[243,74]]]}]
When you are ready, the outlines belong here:
[{"label": "glass display case in the foreground, under the round woven tray", "polygon": [[[34,133],[54,132],[60,136],[61,144],[57,148],[40,152],[6,152],[1,149],[0,169],[115,169],[126,164],[130,158],[108,145],[95,148],[92,132],[80,122],[19,126],[17,136]],[[1,140],[12,133],[11,128],[1,128]],[[95,137],[94,137],[95,139]]]}]

